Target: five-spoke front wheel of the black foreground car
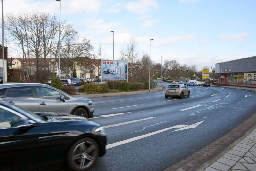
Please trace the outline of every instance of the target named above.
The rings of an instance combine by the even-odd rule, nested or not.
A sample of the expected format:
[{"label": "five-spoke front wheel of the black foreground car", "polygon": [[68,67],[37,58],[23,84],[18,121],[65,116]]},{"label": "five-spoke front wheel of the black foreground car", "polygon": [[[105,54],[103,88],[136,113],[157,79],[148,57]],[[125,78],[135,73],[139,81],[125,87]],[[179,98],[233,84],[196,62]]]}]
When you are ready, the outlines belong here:
[{"label": "five-spoke front wheel of the black foreground car", "polygon": [[81,138],[69,149],[66,161],[72,170],[88,170],[99,155],[99,146],[92,138]]}]

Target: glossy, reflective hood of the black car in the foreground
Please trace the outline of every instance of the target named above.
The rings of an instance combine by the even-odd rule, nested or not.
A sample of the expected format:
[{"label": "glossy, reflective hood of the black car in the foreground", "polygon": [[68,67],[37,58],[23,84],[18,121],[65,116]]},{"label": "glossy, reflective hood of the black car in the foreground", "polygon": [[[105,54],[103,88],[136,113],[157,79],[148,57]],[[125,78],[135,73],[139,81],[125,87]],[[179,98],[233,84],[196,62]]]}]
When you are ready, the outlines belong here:
[{"label": "glossy, reflective hood of the black car in the foreground", "polygon": [[90,119],[84,118],[82,116],[63,114],[63,113],[52,113],[52,112],[35,112],[36,114],[43,115],[47,118],[48,122],[58,122],[58,121],[91,121]]}]

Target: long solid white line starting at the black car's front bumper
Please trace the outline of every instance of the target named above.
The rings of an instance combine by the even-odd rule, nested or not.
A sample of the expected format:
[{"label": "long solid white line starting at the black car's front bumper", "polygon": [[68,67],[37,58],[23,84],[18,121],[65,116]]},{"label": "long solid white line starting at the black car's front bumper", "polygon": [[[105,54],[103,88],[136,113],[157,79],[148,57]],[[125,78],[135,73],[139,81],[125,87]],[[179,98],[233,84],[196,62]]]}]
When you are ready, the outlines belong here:
[{"label": "long solid white line starting at the black car's front bumper", "polygon": [[186,126],[188,126],[188,125],[176,125],[176,126],[173,126],[173,127],[161,129],[159,131],[151,132],[151,133],[148,133],[148,134],[145,134],[145,135],[142,135],[142,136],[136,136],[136,137],[133,137],[133,138],[130,138],[130,139],[126,139],[126,140],[119,141],[119,142],[116,142],[116,143],[108,144],[108,145],[106,145],[106,149],[113,148],[113,147],[123,145],[123,144],[126,144],[126,143],[130,143],[132,141],[136,141],[136,140],[148,137],[148,136],[152,136],[152,135],[164,132],[164,131],[168,131],[168,130],[173,129],[173,128],[183,128],[183,127],[186,127]]}]

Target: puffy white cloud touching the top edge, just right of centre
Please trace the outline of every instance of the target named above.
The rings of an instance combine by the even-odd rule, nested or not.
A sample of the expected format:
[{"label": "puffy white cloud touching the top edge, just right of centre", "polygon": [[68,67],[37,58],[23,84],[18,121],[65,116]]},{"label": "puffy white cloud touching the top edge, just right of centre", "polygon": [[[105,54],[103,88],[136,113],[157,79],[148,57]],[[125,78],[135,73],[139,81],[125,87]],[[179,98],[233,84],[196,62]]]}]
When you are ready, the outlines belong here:
[{"label": "puffy white cloud touching the top edge, just right of centre", "polygon": [[156,0],[139,0],[137,2],[129,2],[125,5],[126,9],[133,13],[145,13],[151,9],[157,9],[158,3]]}]

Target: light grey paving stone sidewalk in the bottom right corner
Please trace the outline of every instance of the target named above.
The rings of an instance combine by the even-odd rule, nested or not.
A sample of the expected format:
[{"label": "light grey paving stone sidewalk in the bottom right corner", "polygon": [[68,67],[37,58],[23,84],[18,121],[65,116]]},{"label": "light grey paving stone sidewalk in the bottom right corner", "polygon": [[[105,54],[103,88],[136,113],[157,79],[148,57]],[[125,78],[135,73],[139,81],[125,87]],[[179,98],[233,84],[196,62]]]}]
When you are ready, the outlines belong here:
[{"label": "light grey paving stone sidewalk in the bottom right corner", "polygon": [[256,171],[256,129],[205,171]]}]

